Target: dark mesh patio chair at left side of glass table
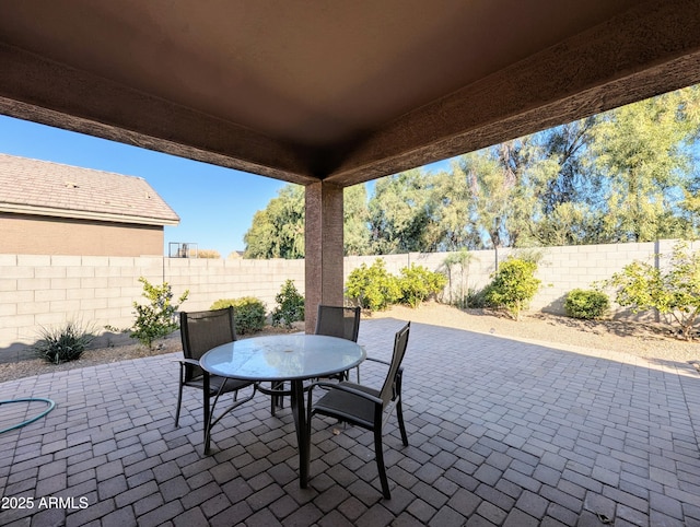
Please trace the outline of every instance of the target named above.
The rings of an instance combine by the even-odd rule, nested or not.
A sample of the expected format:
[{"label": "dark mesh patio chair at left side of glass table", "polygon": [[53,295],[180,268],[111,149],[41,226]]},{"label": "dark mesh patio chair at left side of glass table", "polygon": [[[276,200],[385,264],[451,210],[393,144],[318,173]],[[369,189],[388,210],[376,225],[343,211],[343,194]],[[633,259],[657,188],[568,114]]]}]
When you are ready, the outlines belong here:
[{"label": "dark mesh patio chair at left side of glass table", "polygon": [[[223,309],[191,312],[179,314],[179,329],[183,340],[184,359],[178,360],[179,391],[177,410],[175,411],[175,426],[179,425],[179,413],[183,405],[183,388],[197,388],[202,391],[202,407],[205,418],[205,453],[209,453],[211,429],[219,420],[234,408],[253,399],[256,385],[249,380],[236,380],[210,375],[199,366],[201,356],[212,348],[236,340],[233,307]],[[253,386],[253,393],[245,399],[238,399],[238,390]],[[233,393],[233,405],[218,419],[213,420],[213,410],[222,394]],[[213,402],[210,405],[210,399]]]}]

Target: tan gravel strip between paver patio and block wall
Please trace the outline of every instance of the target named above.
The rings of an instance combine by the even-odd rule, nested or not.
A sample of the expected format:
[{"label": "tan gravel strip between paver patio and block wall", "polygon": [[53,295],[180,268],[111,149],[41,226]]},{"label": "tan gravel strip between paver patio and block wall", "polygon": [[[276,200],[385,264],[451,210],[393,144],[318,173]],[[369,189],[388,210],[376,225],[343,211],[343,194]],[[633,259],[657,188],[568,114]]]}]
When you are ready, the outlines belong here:
[{"label": "tan gravel strip between paver patio and block wall", "polygon": [[[594,348],[631,353],[646,359],[690,363],[700,371],[700,341],[679,340],[667,326],[663,325],[620,320],[576,320],[546,314],[525,315],[522,320],[516,321],[500,314],[480,309],[462,311],[436,303],[423,304],[418,309],[394,306],[371,316],[371,318],[384,317],[486,332],[562,349]],[[283,330],[268,327],[262,333],[256,333],[256,336],[280,331]],[[173,335],[160,341],[153,350],[133,343],[91,349],[85,351],[80,360],[59,365],[47,364],[39,359],[0,364],[0,382],[180,350],[179,336]]]}]

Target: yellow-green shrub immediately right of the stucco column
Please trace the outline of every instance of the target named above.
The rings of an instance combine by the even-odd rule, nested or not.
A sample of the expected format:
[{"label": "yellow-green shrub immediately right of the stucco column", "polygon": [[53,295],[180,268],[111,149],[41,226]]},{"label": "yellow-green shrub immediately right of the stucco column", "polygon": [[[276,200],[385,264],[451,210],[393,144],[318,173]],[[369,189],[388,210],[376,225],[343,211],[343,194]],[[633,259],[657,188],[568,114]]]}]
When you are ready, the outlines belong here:
[{"label": "yellow-green shrub immediately right of the stucco column", "polygon": [[365,309],[382,311],[401,297],[401,288],[396,277],[377,258],[372,266],[362,264],[352,270],[346,282],[346,296]]}]

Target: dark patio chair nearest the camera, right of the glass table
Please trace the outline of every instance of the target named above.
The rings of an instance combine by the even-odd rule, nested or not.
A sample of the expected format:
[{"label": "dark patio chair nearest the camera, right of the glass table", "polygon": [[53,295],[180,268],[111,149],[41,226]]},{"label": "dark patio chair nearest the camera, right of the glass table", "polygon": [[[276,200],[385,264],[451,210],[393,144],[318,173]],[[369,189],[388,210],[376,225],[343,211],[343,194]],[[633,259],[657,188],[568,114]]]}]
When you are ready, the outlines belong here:
[{"label": "dark patio chair nearest the camera, right of the glass table", "polygon": [[[401,442],[404,446],[408,446],[408,436],[406,435],[404,412],[401,409],[401,377],[404,373],[401,361],[406,353],[409,331],[410,323],[396,333],[394,338],[394,353],[390,362],[372,358],[366,359],[368,361],[378,362],[388,366],[386,378],[381,389],[355,383],[329,383],[326,380],[313,383],[308,389],[307,426],[310,436],[311,421],[313,415],[316,414],[335,418],[341,422],[354,424],[374,432],[374,456],[380,472],[380,481],[382,482],[382,493],[387,500],[392,497],[392,494],[389,492],[386,468],[384,466],[382,431],[395,407],[401,433]],[[320,386],[327,389],[327,391],[316,402],[313,402],[312,396],[316,386]]]}]

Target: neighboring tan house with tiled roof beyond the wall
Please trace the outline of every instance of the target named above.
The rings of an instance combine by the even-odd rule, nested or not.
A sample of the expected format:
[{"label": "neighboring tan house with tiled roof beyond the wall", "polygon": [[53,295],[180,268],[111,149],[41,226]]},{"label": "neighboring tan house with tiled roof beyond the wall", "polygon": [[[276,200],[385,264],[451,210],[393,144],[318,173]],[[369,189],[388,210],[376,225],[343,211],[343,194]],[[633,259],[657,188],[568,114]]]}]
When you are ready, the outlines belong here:
[{"label": "neighboring tan house with tiled roof beyond the wall", "polygon": [[0,154],[0,254],[163,256],[178,223],[143,178]]}]

